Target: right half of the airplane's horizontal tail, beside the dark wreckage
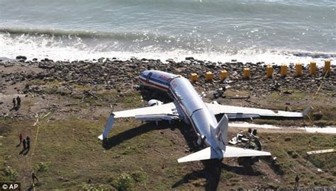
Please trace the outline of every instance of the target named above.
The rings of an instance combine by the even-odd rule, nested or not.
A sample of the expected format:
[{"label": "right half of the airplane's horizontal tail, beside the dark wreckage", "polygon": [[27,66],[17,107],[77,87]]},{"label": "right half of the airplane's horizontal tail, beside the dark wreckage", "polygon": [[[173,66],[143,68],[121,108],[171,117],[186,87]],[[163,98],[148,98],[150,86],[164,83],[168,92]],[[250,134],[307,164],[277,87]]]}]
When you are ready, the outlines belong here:
[{"label": "right half of the airplane's horizontal tail, beside the dark wreckage", "polygon": [[224,158],[229,157],[243,157],[243,156],[271,156],[269,152],[256,151],[252,149],[242,149],[234,146],[226,146],[224,153]]}]

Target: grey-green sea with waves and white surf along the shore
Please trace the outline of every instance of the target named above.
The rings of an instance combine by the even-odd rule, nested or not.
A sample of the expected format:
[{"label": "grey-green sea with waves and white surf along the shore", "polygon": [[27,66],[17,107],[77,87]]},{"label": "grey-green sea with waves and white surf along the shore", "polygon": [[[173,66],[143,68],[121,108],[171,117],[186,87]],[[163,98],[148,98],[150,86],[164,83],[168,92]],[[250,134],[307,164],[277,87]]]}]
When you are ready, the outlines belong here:
[{"label": "grey-green sea with waves and white surf along the shore", "polygon": [[0,0],[0,57],[336,58],[335,0]]}]

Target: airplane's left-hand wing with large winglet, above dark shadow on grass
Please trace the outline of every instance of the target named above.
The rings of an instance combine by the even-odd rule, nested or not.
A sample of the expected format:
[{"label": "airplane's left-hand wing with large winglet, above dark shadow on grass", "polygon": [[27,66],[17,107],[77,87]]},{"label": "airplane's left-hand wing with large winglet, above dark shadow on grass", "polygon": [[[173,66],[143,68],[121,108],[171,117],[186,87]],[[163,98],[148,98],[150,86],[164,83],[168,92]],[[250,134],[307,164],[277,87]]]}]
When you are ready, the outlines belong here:
[{"label": "airplane's left-hand wing with large winglet, above dark shadow on grass", "polygon": [[163,105],[155,105],[152,107],[137,108],[132,110],[123,110],[118,112],[112,112],[108,117],[103,134],[98,138],[103,140],[107,138],[108,132],[112,129],[114,124],[114,118],[135,117],[135,120],[144,121],[161,121],[161,120],[175,120],[181,116],[177,112],[174,103],[167,103]]}]

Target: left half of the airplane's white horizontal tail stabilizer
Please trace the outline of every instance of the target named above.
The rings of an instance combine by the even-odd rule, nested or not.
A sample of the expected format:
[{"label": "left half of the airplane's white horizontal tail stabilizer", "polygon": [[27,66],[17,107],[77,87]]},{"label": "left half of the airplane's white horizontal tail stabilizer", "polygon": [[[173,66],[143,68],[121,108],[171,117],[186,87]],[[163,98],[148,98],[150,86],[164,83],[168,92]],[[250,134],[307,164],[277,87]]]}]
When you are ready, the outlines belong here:
[{"label": "left half of the airplane's white horizontal tail stabilizer", "polygon": [[203,149],[201,151],[197,151],[194,154],[189,154],[188,156],[184,156],[182,158],[179,158],[177,161],[179,163],[189,162],[189,161],[201,161],[201,160],[207,160],[211,158],[222,158],[221,156],[218,156],[218,154],[215,153],[215,150],[211,148],[211,146],[207,147],[206,149]]}]

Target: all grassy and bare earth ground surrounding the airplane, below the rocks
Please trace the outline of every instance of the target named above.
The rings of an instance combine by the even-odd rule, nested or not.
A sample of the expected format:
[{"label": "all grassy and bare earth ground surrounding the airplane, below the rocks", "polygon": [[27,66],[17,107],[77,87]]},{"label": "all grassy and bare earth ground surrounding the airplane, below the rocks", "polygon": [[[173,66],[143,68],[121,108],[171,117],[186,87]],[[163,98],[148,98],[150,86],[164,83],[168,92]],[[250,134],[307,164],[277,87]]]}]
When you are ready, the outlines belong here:
[{"label": "all grassy and bare earth ground surrounding the airplane, below the rocks", "polygon": [[[34,171],[40,180],[38,190],[228,190],[293,187],[300,185],[335,186],[336,154],[308,156],[306,151],[335,149],[336,135],[259,133],[264,150],[275,161],[262,158],[252,168],[238,166],[237,159],[177,163],[191,154],[195,134],[189,126],[176,122],[142,124],[134,120],[116,120],[108,141],[97,137],[106,123],[110,104],[115,110],[144,105],[138,91],[103,90],[99,86],[62,86],[45,83],[42,96],[24,98],[18,112],[47,117],[35,120],[0,120],[0,181],[18,181],[23,189],[31,185]],[[72,88],[72,91],[69,91]],[[91,91],[90,96],[84,91]],[[289,93],[284,93],[289,91]],[[247,91],[226,92],[228,97],[251,96]],[[223,104],[284,110],[303,110],[313,105],[310,120],[253,120],[274,125],[335,125],[335,91],[321,92],[313,102],[313,93],[296,90],[274,91],[251,96],[249,100],[222,99]],[[311,103],[311,104],[310,104]],[[319,115],[320,113],[320,115]],[[22,152],[18,134],[29,136],[30,151]],[[230,137],[237,133],[230,129]]]}]

